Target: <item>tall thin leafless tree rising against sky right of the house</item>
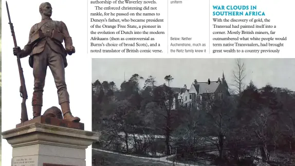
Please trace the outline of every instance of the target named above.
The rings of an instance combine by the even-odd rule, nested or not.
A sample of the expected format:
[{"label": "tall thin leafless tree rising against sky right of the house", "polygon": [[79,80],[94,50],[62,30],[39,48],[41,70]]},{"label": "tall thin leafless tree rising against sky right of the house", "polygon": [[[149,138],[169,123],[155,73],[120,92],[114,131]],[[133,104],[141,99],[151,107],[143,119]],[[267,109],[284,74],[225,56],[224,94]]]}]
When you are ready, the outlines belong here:
[{"label": "tall thin leafless tree rising against sky right of the house", "polygon": [[241,97],[242,91],[245,88],[244,79],[246,77],[245,73],[245,63],[241,61],[241,59],[236,59],[235,61],[236,68],[233,70],[234,77],[234,92]]}]

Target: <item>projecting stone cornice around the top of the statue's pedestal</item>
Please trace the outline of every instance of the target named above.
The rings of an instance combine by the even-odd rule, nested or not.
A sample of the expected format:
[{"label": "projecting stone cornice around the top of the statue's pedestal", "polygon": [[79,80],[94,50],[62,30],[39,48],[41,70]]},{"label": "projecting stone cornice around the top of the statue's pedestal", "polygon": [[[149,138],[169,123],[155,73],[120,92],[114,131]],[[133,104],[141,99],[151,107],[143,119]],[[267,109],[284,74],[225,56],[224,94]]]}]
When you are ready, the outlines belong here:
[{"label": "projecting stone cornice around the top of the statue's pedestal", "polygon": [[98,140],[100,134],[49,124],[33,123],[2,133],[11,146],[29,144],[57,144],[85,149]]}]

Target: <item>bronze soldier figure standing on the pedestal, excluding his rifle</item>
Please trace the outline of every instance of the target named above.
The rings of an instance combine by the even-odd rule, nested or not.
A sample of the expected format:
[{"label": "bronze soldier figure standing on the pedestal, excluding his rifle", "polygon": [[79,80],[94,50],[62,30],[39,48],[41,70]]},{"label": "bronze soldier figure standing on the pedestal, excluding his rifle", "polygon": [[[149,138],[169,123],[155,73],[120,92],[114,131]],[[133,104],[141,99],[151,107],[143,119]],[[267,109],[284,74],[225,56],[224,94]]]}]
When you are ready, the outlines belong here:
[{"label": "bronze soldier figure standing on the pedestal, excluding his rifle", "polygon": [[[68,121],[79,122],[80,118],[73,117],[70,112],[69,94],[65,82],[66,56],[75,53],[68,29],[62,21],[53,21],[50,17],[52,7],[50,3],[42,3],[39,7],[42,21],[32,26],[29,42],[21,49],[13,48],[13,54],[20,58],[29,57],[29,65],[33,68],[34,92],[32,97],[33,117],[41,116],[43,105],[43,89],[47,66],[49,66],[54,82],[58,89],[59,104],[63,117]],[[65,42],[65,48],[62,43]]]}]

